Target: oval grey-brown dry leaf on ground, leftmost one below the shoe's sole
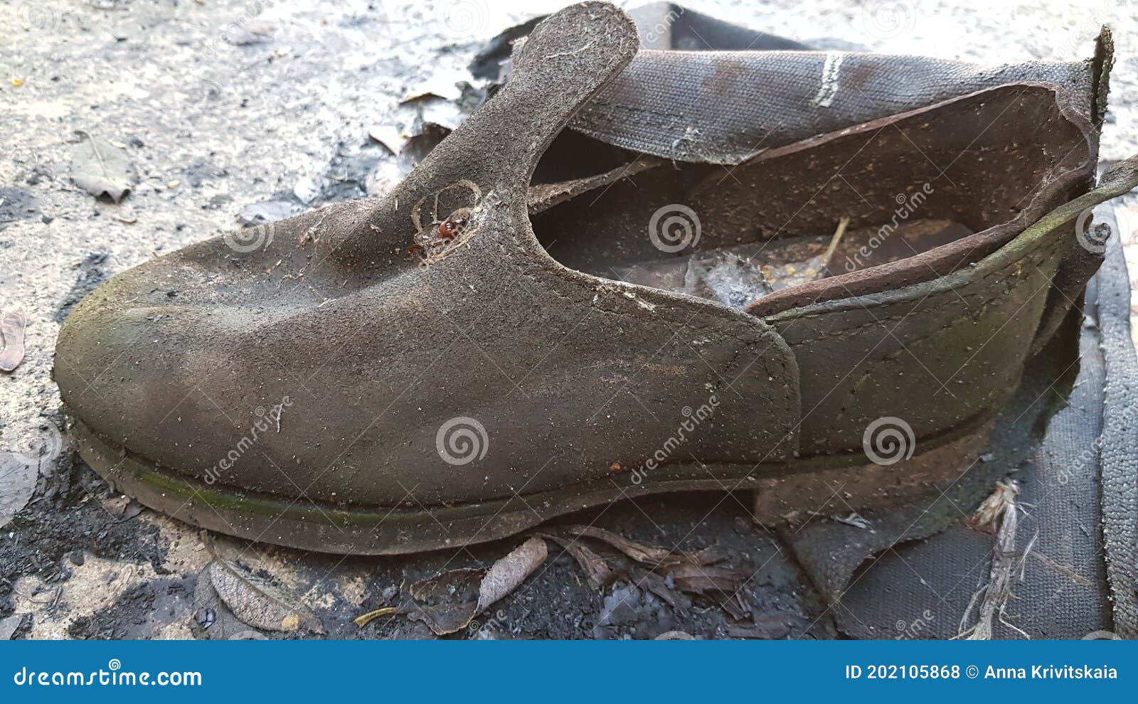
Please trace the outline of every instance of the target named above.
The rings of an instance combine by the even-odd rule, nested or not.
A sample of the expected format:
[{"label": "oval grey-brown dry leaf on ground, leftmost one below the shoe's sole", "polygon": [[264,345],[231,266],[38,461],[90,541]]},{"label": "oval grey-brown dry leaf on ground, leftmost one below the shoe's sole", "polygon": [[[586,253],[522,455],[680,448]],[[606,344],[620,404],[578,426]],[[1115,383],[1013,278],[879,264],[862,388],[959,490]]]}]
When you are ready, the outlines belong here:
[{"label": "oval grey-brown dry leaf on ground, leftmost one below the shoe's sole", "polygon": [[241,622],[254,628],[292,631],[305,626],[324,632],[316,615],[283,589],[228,560],[214,560],[206,568],[221,601]]}]

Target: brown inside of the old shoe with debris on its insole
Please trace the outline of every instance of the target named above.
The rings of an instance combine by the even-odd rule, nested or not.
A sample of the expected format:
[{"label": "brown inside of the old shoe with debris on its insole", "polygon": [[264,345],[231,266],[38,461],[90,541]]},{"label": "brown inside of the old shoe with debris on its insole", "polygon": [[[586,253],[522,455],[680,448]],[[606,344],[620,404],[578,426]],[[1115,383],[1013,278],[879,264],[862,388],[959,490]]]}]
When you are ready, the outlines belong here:
[{"label": "brown inside of the old shoe with debris on its insole", "polygon": [[[1055,193],[1085,189],[1091,144],[1066,100],[1054,86],[999,86],[734,167],[635,152],[613,167],[610,144],[574,134],[572,180],[538,167],[531,223],[570,268],[756,314],[871,293],[975,263]],[[564,161],[560,140],[551,154]],[[603,163],[582,177],[592,155]]]}]

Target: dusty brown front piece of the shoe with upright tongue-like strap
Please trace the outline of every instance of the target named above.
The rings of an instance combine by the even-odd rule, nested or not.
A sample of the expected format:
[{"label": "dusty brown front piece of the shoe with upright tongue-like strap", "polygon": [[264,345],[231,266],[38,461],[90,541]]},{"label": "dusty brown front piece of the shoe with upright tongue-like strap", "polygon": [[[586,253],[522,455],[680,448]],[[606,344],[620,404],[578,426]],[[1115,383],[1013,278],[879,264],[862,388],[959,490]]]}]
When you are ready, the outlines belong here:
[{"label": "dusty brown front piece of the shoe with upright tongue-like strap", "polygon": [[[798,367],[769,325],[567,270],[529,227],[525,189],[544,146],[634,50],[611,6],[567,9],[526,42],[511,84],[388,197],[275,223],[247,255],[218,238],[115,278],[60,333],[66,404],[108,440],[200,479],[257,408],[288,396],[280,431],[218,481],[339,504],[603,478],[651,456],[679,411],[712,392],[719,409],[685,449],[789,459]],[[412,207],[460,180],[480,191],[473,234],[414,265]],[[455,416],[485,425],[485,462],[437,453]]]}]

